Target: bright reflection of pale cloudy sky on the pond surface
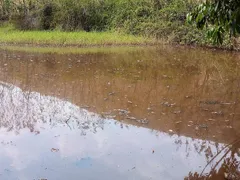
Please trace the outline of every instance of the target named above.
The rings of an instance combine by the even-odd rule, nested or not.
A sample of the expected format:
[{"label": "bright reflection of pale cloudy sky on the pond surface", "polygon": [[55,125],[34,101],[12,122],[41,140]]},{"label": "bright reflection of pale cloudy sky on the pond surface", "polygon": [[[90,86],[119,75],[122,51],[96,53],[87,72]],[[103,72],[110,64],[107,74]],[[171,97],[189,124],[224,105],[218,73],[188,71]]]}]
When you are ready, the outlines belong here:
[{"label": "bright reflection of pale cloudy sky on the pond surface", "polygon": [[[197,152],[203,140],[122,128],[69,102],[8,84],[0,90],[0,179],[178,180],[207,164],[205,149]],[[214,142],[207,146],[217,152]]]}]

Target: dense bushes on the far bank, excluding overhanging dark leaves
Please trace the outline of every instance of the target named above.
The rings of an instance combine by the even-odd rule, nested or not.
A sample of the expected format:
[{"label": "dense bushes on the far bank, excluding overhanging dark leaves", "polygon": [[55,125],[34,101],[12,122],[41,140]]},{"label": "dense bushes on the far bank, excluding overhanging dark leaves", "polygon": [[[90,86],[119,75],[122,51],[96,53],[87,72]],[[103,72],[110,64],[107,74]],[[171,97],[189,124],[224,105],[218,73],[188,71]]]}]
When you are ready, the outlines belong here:
[{"label": "dense bushes on the far bank, excluding overhanging dark leaves", "polygon": [[117,31],[173,43],[204,43],[186,23],[191,0],[0,0],[0,19],[22,30]]}]

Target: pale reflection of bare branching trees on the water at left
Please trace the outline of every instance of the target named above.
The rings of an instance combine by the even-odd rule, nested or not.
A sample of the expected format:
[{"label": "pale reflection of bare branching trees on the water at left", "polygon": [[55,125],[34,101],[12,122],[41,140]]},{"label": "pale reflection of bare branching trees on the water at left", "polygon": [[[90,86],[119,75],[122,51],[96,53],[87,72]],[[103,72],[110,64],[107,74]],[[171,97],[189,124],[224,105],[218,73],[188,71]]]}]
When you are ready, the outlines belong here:
[{"label": "pale reflection of bare branching trees on the water at left", "polygon": [[96,132],[103,128],[103,118],[95,113],[59,98],[44,96],[37,92],[22,91],[20,88],[0,82],[0,128],[14,131],[28,128],[37,130],[39,124],[50,127],[67,126],[79,129],[82,135],[86,131]]}]

